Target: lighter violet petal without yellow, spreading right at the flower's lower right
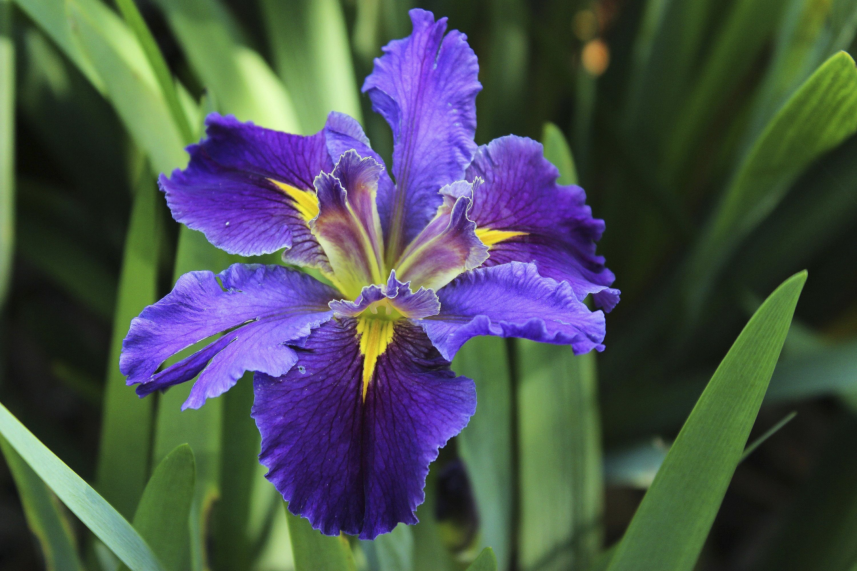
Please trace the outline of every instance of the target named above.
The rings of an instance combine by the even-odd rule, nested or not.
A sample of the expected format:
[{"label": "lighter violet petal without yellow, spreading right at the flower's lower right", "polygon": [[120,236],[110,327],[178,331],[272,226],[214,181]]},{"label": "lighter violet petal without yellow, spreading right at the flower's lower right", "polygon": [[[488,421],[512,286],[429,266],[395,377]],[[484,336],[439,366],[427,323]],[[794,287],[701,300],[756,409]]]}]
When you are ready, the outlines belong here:
[{"label": "lighter violet petal without yellow, spreading right at the flower's lower right", "polygon": [[437,295],[440,313],[418,323],[446,360],[477,335],[571,345],[575,354],[604,349],[604,313],[590,312],[569,283],[541,277],[532,264],[469,271]]}]

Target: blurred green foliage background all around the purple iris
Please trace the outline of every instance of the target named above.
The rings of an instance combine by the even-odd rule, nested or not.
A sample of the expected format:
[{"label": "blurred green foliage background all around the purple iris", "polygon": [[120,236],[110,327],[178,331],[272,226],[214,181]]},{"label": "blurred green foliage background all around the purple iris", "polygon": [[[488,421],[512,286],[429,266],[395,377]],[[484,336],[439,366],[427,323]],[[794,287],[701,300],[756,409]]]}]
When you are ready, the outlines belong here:
[{"label": "blurred green foliage background all around the purple iris", "polygon": [[[476,142],[541,140],[586,189],[622,300],[602,354],[468,343],[479,408],[417,526],[330,543],[286,517],[249,379],[185,413],[189,387],[124,387],[130,318],[236,260],[154,176],[210,110],[303,134],[345,111],[389,157],[358,88],[416,5],[0,0],[0,401],[168,569],[494,568],[485,546],[513,571],[857,569],[855,0],[418,4],[479,57]],[[803,269],[786,336],[803,278],[759,306]],[[0,568],[117,568],[134,530],[105,539],[85,484],[79,513],[3,443]]]}]

